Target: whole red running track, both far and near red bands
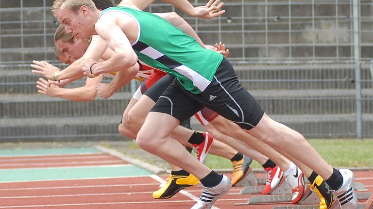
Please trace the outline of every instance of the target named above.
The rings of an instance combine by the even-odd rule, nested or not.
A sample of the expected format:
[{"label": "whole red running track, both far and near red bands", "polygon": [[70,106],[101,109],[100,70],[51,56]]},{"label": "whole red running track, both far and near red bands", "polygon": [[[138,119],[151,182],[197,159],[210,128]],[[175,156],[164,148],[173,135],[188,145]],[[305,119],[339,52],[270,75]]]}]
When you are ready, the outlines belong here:
[{"label": "whole red running track, both far and near red bands", "polygon": [[[113,164],[127,163],[106,154],[0,158],[0,169]],[[355,181],[363,183],[373,193],[373,171],[354,173]],[[264,174],[257,176],[264,177]],[[158,185],[152,177],[0,183],[0,209],[189,209],[202,191],[197,186],[170,199],[155,200],[152,193]],[[232,188],[230,193],[240,190]],[[228,193],[220,197],[215,206],[218,209],[271,209],[274,206],[234,206],[234,203],[246,202],[249,197],[251,195]],[[367,209],[372,202],[371,196],[366,202]]]}]

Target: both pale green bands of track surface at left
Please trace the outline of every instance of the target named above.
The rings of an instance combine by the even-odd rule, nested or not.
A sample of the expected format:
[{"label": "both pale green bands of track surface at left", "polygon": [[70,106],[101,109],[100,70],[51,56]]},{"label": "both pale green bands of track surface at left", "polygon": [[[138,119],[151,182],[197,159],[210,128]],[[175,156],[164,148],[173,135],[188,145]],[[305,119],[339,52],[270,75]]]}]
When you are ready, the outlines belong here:
[{"label": "both pale green bands of track surface at left", "polygon": [[[0,149],[0,157],[102,154],[95,148]],[[152,175],[134,165],[0,169],[0,182],[138,177]]]}]

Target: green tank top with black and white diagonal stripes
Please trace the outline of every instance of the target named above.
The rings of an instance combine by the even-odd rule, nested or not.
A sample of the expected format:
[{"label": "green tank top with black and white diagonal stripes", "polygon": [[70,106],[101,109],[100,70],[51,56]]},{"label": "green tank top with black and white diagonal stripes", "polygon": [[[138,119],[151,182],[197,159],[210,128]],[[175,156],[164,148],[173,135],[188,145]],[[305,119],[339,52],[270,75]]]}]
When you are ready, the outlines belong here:
[{"label": "green tank top with black and white diagonal stripes", "polygon": [[132,48],[139,60],[177,77],[184,88],[199,94],[210,84],[223,56],[201,47],[198,42],[165,19],[128,7],[110,7],[125,13],[138,23],[138,35]]}]

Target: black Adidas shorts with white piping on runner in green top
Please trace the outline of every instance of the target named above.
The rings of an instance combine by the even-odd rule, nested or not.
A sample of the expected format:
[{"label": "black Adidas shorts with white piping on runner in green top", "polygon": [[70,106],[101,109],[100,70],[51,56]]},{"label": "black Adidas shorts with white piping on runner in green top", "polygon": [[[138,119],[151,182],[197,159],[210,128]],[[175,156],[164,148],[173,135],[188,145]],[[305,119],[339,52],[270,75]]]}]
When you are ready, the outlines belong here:
[{"label": "black Adidas shorts with white piping on runner in green top", "polygon": [[151,111],[167,113],[184,121],[203,107],[215,111],[243,129],[252,129],[264,114],[255,98],[239,83],[233,66],[225,58],[201,94],[187,91],[174,79]]}]

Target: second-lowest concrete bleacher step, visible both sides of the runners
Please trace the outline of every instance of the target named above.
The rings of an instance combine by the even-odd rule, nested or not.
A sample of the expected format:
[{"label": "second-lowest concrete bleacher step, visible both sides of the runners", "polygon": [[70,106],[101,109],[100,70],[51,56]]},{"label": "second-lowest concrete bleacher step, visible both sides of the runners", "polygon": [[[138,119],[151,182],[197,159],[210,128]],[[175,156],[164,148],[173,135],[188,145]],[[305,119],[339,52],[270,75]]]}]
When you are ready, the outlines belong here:
[{"label": "second-lowest concrete bleacher step, visible both sides of the runners", "polygon": [[[355,110],[354,90],[252,90],[267,114],[350,114]],[[364,89],[363,113],[373,113],[373,91]],[[121,113],[131,98],[130,93],[116,93],[104,100],[74,102],[41,94],[6,94],[0,96],[3,118],[69,117]],[[341,108],[342,107],[342,108]],[[301,120],[303,121],[303,120]]]}]

